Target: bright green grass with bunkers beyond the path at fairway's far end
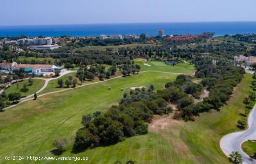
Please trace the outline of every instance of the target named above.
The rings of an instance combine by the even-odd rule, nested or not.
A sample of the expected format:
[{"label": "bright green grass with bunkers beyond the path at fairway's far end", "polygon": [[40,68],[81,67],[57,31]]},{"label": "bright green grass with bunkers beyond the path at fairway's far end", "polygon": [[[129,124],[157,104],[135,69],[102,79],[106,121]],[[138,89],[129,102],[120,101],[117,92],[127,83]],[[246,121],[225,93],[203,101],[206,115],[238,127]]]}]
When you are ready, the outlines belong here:
[{"label": "bright green grass with bunkers beyond the path at fairway's far end", "polygon": [[[179,63],[175,66],[167,65],[164,61],[134,61],[135,64],[141,66],[141,71],[162,71],[162,72],[173,72],[173,73],[195,73],[194,65],[187,63]],[[147,63],[150,66],[145,66]]]}]

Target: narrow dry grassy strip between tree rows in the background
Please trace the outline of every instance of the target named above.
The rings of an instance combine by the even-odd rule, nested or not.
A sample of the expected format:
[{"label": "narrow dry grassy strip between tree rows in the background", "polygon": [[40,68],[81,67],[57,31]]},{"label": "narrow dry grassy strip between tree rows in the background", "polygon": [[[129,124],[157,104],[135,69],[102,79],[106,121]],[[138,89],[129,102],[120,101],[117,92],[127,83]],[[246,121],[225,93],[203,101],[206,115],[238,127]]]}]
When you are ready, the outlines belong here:
[{"label": "narrow dry grassy strip between tree rows in the background", "polygon": [[161,45],[150,45],[150,44],[129,44],[129,45],[120,45],[120,46],[85,46],[81,48],[75,48],[73,51],[75,52],[76,50],[80,51],[91,51],[91,50],[99,50],[99,51],[106,51],[107,48],[112,48],[112,51],[117,51],[119,48],[136,48],[137,46],[161,46]]}]

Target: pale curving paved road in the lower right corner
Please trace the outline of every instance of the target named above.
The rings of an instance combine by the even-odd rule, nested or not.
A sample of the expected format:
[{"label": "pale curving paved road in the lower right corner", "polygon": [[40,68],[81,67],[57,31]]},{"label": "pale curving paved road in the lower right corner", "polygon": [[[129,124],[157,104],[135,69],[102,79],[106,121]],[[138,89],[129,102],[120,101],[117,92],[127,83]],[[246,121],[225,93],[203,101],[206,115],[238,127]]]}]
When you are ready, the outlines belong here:
[{"label": "pale curving paved road in the lower right corner", "polygon": [[222,151],[226,156],[232,151],[239,151],[243,156],[243,164],[256,164],[256,160],[250,158],[243,150],[241,145],[249,139],[256,139],[256,105],[254,105],[248,118],[249,129],[230,133],[220,141]]}]

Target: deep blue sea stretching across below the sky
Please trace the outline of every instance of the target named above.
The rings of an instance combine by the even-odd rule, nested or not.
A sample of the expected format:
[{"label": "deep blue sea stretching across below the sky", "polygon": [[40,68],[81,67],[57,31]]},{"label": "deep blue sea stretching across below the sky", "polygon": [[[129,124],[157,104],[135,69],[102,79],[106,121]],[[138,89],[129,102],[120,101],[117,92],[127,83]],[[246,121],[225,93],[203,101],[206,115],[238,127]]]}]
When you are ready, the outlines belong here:
[{"label": "deep blue sea stretching across below the sky", "polygon": [[40,25],[0,26],[0,36],[37,37],[39,35],[58,37],[62,35],[81,37],[101,34],[199,34],[214,32],[216,36],[236,33],[256,33],[256,21],[251,22],[187,22],[187,23],[124,23],[124,24],[83,24],[83,25]]}]

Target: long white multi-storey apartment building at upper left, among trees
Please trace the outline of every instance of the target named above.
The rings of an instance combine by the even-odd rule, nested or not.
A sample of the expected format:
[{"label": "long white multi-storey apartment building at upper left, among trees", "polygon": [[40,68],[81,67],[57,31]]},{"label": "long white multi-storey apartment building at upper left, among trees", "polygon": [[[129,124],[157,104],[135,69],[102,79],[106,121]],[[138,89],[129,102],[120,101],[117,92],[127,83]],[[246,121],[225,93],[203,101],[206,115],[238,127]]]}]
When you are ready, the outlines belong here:
[{"label": "long white multi-storey apartment building at upper left, among trees", "polygon": [[20,46],[23,45],[51,45],[53,40],[51,37],[47,38],[35,38],[35,39],[19,39],[17,44]]}]

